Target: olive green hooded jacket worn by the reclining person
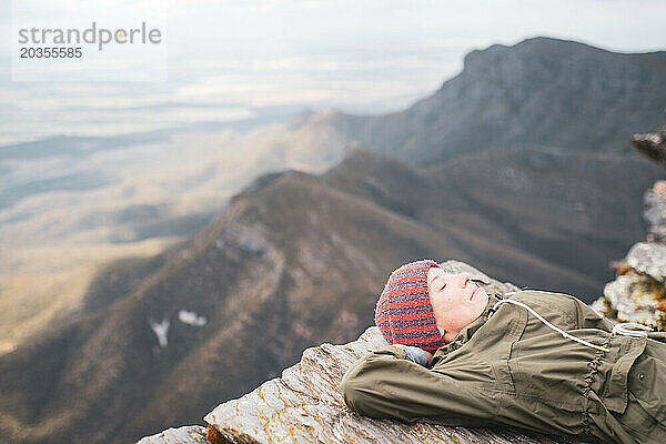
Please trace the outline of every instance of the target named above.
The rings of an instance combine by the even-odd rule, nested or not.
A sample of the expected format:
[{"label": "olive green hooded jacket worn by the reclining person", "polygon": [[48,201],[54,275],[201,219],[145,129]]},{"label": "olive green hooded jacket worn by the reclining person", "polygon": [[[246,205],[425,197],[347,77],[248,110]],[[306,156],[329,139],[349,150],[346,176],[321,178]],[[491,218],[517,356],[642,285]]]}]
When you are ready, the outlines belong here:
[{"label": "olive green hooded jacket worn by the reclining person", "polygon": [[[595,350],[491,295],[484,312],[437,350],[430,367],[397,346],[375,351],[342,381],[347,406],[372,417],[452,426],[511,425],[585,441],[666,443],[664,334],[633,337],[576,297],[511,296]],[[488,313],[490,312],[490,313]]]}]

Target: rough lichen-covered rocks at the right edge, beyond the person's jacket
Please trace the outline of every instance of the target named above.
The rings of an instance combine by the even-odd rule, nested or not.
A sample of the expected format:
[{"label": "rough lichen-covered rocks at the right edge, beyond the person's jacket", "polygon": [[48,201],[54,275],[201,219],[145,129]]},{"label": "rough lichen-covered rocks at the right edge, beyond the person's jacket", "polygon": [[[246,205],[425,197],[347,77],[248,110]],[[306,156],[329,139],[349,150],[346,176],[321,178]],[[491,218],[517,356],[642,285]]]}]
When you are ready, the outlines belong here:
[{"label": "rough lichen-covered rocks at the right edge, beyond the person's jacket", "polygon": [[[635,134],[638,152],[666,165],[666,127],[659,132]],[[607,317],[638,322],[666,331],[666,181],[657,181],[644,195],[647,242],[638,242],[614,268],[615,281],[593,304]]]}]

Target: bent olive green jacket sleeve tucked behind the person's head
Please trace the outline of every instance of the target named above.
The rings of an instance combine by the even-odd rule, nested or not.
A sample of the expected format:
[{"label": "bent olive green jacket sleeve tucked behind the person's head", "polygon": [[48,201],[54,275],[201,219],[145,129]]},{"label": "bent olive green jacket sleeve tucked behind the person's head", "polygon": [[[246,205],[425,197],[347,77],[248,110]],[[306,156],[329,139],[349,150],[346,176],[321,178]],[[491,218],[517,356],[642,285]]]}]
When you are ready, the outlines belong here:
[{"label": "bent olive green jacket sleeve tucked behind the person's head", "polygon": [[441,367],[432,371],[407,360],[396,346],[373,352],[352,366],[342,380],[342,394],[347,407],[366,416],[456,426],[490,424],[498,404]]}]

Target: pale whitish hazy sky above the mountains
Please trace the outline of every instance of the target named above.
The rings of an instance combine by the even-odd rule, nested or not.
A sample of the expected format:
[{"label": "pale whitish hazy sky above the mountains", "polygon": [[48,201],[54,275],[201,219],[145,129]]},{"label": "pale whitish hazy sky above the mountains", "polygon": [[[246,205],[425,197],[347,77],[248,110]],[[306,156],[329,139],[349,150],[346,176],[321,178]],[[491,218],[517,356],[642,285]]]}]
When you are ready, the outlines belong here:
[{"label": "pale whitish hazy sky above the mountains", "polygon": [[[92,0],[16,1],[58,23],[88,20],[77,16],[78,2]],[[94,19],[112,22],[137,3],[98,0]],[[59,131],[113,134],[180,119],[238,119],[273,105],[386,112],[434,91],[460,71],[470,50],[535,36],[615,51],[666,49],[664,0],[142,3],[169,17],[169,81],[27,83],[9,81],[9,39],[16,37],[10,33],[11,1],[0,0],[7,42],[0,48],[0,145]],[[155,118],[149,108],[163,114]]]}]

